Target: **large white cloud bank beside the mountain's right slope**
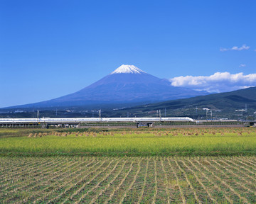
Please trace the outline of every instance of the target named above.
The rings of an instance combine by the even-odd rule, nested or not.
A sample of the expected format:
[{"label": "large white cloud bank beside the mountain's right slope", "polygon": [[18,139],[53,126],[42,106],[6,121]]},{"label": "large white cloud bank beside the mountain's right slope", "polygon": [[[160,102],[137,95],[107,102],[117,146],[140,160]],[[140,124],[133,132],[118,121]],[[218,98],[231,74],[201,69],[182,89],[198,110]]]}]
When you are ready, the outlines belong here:
[{"label": "large white cloud bank beside the mountain's right slope", "polygon": [[172,86],[181,86],[197,91],[226,92],[256,86],[256,74],[230,74],[216,72],[210,76],[181,76],[169,79]]}]

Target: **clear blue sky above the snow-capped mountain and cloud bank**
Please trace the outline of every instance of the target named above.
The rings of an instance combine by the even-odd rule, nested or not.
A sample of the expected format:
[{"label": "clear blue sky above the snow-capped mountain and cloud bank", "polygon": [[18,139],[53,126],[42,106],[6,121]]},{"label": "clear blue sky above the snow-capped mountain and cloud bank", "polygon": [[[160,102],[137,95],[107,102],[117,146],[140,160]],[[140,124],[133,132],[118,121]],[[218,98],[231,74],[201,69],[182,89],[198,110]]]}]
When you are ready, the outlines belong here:
[{"label": "clear blue sky above the snow-capped mountain and cloud bank", "polygon": [[1,0],[0,107],[73,93],[122,64],[166,79],[256,73],[255,22],[254,0]]}]

